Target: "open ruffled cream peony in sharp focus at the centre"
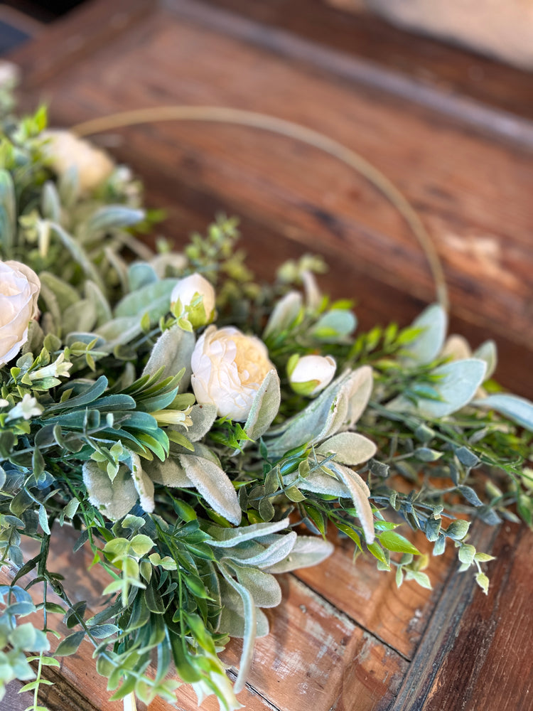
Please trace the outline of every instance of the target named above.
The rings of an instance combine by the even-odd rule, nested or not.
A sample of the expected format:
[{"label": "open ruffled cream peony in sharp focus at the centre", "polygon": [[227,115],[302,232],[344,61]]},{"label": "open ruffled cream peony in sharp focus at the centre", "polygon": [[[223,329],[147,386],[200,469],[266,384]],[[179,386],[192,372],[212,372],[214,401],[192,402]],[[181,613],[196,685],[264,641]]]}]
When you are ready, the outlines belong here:
[{"label": "open ruffled cream peony in sharp focus at the centre", "polygon": [[200,405],[216,405],[220,417],[244,422],[254,396],[274,365],[266,346],[237,328],[210,326],[198,339],[191,368],[193,390]]}]

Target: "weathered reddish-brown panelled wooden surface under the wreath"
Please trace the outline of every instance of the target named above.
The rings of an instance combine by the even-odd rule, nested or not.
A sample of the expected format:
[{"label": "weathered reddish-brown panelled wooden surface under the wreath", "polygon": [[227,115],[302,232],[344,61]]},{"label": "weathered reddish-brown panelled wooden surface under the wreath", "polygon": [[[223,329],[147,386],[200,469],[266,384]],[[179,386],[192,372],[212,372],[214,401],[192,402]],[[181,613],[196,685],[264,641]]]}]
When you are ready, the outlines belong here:
[{"label": "weathered reddish-brown panelled wooden surface under the wreath", "polygon": [[[317,0],[99,0],[14,59],[26,76],[24,104],[46,100],[56,125],[141,107],[232,106],[359,151],[397,183],[434,236],[453,330],[474,344],[495,338],[500,380],[532,397],[532,77],[428,41],[417,55],[415,41],[360,19]],[[469,67],[486,82],[463,76]],[[162,231],[177,244],[224,210],[242,218],[259,277],[285,257],[325,255],[324,289],[357,299],[362,327],[407,324],[433,299],[402,218],[364,178],[316,149],[198,123],[143,125],[99,141],[144,178],[147,201],[166,209]],[[533,535],[504,525],[480,526],[473,537],[497,555],[488,597],[470,574],[453,575],[451,550],[429,570],[431,591],[414,583],[397,590],[372,562],[353,565],[343,541],[323,565],[281,577],[284,602],[269,611],[271,635],[257,644],[242,702],[253,711],[532,709]],[[89,594],[96,603],[98,591]],[[238,653],[232,644],[232,668]],[[107,701],[90,665],[83,655],[64,659],[50,708],[121,707]],[[178,707],[195,707],[186,688]]]}]

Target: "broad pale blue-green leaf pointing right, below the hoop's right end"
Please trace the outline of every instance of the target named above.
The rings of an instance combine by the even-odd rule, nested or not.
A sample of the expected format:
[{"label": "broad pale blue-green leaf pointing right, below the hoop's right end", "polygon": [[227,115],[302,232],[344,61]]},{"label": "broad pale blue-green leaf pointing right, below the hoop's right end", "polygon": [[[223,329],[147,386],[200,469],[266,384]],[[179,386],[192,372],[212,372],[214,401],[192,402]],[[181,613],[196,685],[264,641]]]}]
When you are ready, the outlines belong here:
[{"label": "broad pale blue-green leaf pointing right, below the hoop's right end", "polygon": [[432,386],[441,400],[420,398],[411,402],[404,395],[399,395],[389,402],[387,409],[431,419],[451,415],[473,399],[478,387],[483,383],[486,369],[485,361],[478,358],[454,360],[452,363],[440,365],[432,371],[433,375],[440,376],[440,380],[432,383]]}]

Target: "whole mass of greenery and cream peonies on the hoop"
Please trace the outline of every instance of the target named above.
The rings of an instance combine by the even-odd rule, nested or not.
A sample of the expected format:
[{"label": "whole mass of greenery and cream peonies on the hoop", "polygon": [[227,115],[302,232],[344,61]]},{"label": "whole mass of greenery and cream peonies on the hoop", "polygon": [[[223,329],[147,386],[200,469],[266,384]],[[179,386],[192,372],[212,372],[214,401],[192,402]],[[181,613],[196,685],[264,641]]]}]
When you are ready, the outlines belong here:
[{"label": "whole mass of greenery and cream peonies on the hoop", "polygon": [[[357,333],[352,303],[318,289],[321,259],[257,284],[235,220],[152,252],[156,217],[128,169],[4,102],[0,698],[25,680],[34,711],[45,665],[84,641],[114,700],[173,702],[190,683],[237,709],[276,574],[327,557],[328,530],[428,587],[420,530],[486,592],[470,521],[532,524],[533,405],[492,380],[492,341],[446,339],[438,304]],[[97,611],[50,570],[65,526],[107,580]],[[52,616],[71,629],[59,641]]]}]

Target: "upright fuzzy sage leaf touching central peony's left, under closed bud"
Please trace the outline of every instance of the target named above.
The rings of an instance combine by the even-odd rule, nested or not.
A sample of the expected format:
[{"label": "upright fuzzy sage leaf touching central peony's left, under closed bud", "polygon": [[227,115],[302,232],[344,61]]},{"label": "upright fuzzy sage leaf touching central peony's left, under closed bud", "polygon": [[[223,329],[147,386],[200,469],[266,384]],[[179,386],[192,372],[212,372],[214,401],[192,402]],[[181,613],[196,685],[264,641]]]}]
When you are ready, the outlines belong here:
[{"label": "upright fuzzy sage leaf touching central peony's left, under closed bud", "polygon": [[[170,301],[168,303],[170,304]],[[164,368],[161,373],[163,380],[185,368],[185,375],[181,378],[179,387],[179,392],[185,392],[190,384],[190,357],[193,355],[195,341],[194,333],[183,331],[177,324],[163,331],[152,348],[143,375],[153,375],[159,368]]]}]

